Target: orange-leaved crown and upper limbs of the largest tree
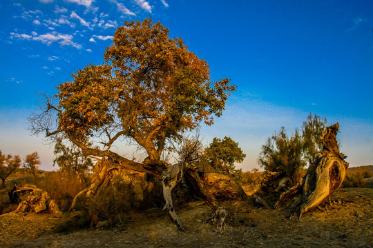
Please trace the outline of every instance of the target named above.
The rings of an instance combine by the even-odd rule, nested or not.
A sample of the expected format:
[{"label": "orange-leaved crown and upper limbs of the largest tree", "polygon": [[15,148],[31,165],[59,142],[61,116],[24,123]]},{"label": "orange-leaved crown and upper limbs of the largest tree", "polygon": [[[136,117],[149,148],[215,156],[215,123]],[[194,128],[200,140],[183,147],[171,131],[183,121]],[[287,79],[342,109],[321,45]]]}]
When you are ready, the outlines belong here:
[{"label": "orange-leaved crown and upper limbs of the largest tree", "polygon": [[[212,125],[236,87],[229,79],[211,81],[206,61],[181,38],[170,38],[161,23],[144,19],[126,21],[106,48],[104,63],[77,70],[73,81],[57,89],[30,116],[35,133],[63,136],[85,155],[110,157],[127,169],[160,176],[167,142],[202,122]],[[111,149],[124,138],[146,151],[144,163]]]}]

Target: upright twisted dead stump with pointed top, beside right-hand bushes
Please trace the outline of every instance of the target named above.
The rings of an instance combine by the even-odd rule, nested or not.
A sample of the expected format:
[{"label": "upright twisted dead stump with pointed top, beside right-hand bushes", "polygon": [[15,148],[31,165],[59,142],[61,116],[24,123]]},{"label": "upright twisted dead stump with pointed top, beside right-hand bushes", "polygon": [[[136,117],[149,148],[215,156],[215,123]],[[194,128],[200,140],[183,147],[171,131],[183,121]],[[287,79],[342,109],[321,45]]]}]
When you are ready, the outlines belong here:
[{"label": "upright twisted dead stump with pointed top, beside right-hand bushes", "polygon": [[338,128],[339,124],[336,123],[325,129],[323,150],[318,155],[318,163],[309,167],[303,183],[281,194],[276,209],[294,209],[299,212],[300,218],[341,187],[349,164],[345,161],[347,156],[339,152],[336,141]]}]

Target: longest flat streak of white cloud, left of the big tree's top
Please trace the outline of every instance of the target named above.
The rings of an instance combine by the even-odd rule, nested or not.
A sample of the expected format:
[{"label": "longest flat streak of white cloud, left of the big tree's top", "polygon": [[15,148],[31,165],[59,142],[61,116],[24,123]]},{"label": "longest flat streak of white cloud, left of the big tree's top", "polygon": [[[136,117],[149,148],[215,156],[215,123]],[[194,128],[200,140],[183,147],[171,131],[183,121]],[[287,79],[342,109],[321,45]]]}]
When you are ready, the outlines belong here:
[{"label": "longest flat streak of white cloud, left of the big tree's top", "polygon": [[78,43],[75,43],[73,41],[73,35],[71,34],[60,34],[56,31],[47,33],[47,34],[37,34],[32,33],[32,35],[29,34],[18,34],[15,32],[10,33],[11,39],[25,39],[27,41],[40,41],[41,43],[45,43],[47,45],[51,45],[54,42],[59,43],[60,45],[70,45],[77,49],[82,49],[82,45],[79,45]]}]

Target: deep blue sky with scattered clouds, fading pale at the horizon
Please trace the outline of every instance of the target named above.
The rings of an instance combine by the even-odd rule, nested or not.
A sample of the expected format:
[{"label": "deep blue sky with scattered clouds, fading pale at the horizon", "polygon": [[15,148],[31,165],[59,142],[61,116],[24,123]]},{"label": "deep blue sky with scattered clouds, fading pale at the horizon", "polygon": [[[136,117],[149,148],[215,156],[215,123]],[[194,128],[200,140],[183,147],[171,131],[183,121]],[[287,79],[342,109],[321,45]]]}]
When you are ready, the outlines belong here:
[{"label": "deep blue sky with scattered clouds, fading pale at the horizon", "polygon": [[238,86],[203,142],[231,136],[258,167],[265,139],[300,127],[312,112],[341,124],[341,151],[351,166],[373,164],[373,1],[23,0],[0,3],[0,150],[52,147],[30,136],[36,92],[88,63],[101,63],[123,21],[152,17],[205,59],[214,80]]}]

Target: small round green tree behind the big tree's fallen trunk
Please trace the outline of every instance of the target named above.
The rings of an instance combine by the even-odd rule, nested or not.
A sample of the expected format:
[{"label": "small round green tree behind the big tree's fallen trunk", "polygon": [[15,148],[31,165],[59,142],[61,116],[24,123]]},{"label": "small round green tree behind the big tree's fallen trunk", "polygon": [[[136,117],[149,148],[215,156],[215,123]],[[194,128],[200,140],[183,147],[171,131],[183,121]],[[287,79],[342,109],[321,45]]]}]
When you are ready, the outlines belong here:
[{"label": "small round green tree behind the big tree's fallen trunk", "polygon": [[[234,174],[236,170],[234,163],[242,163],[246,154],[238,147],[230,137],[213,138],[210,146],[204,150],[204,156],[216,172]],[[242,171],[241,171],[242,172]]]}]

